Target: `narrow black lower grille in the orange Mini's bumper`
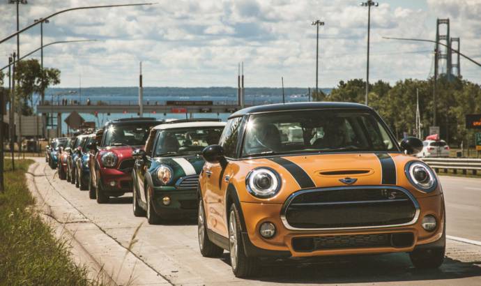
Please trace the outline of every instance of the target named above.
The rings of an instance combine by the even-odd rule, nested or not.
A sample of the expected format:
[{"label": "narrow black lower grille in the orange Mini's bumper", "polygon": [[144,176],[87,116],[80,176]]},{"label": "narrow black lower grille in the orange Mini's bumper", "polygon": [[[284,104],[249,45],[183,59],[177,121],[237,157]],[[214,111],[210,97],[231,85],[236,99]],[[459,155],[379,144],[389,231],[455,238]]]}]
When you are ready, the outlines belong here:
[{"label": "narrow black lower grille in the orange Mini's bumper", "polygon": [[337,236],[298,237],[292,239],[292,247],[298,252],[352,248],[405,248],[414,243],[410,232],[397,234],[356,234]]}]

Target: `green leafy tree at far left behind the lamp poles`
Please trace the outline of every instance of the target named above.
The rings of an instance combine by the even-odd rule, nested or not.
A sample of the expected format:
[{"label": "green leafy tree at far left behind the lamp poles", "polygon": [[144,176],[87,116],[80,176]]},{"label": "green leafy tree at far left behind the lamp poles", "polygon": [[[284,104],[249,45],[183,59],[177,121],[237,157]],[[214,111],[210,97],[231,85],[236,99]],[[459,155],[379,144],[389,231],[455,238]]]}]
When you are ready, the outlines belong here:
[{"label": "green leafy tree at far left behind the lamp poles", "polygon": [[[42,93],[48,86],[60,83],[60,70],[56,68],[42,68],[37,59],[19,61],[15,66],[16,100],[21,107],[22,114],[31,115],[33,93]],[[29,104],[30,101],[30,104]]]}]

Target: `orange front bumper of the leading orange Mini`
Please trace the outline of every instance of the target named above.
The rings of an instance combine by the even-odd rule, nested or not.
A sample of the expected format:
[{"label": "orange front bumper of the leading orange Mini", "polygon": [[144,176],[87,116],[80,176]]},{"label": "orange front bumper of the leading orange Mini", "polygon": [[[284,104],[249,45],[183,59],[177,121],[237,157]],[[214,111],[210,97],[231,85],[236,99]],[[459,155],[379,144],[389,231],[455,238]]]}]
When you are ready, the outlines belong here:
[{"label": "orange front bumper of the leading orange Mini", "polygon": [[[339,230],[292,230],[287,229],[282,223],[280,213],[282,204],[259,204],[241,202],[241,208],[245,218],[245,229],[243,231],[246,252],[249,249],[251,256],[286,256],[290,253],[292,257],[312,257],[321,255],[352,255],[352,254],[374,254],[374,253],[400,253],[411,252],[414,248],[420,248],[428,243],[441,243],[444,230],[444,204],[443,195],[435,195],[418,199],[420,204],[420,215],[412,225],[402,227],[373,227],[366,229],[339,229]],[[421,226],[424,216],[431,214],[438,220],[438,227],[434,232],[427,232]],[[259,227],[264,222],[273,223],[277,233],[272,239],[264,239],[259,234]],[[397,234],[393,236],[393,234]],[[300,239],[344,239],[346,237],[369,237],[388,236],[398,237],[399,234],[412,235],[409,245],[394,246],[372,246],[372,247],[347,247],[347,248],[325,248],[322,250],[300,250],[298,244],[293,241]],[[337,237],[337,238],[336,238]],[[248,239],[248,241],[245,241]]]}]

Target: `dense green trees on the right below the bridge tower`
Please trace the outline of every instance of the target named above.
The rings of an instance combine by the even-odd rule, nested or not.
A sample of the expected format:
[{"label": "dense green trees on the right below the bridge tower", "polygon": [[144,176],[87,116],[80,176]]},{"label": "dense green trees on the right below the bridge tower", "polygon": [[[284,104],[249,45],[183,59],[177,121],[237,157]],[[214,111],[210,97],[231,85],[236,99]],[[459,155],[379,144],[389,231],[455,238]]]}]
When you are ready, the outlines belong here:
[{"label": "dense green trees on the right below the bridge tower", "polygon": [[[433,122],[432,79],[402,80],[390,86],[379,80],[369,84],[369,106],[379,112],[398,138],[404,132],[413,134],[415,129],[416,90],[419,92],[421,123],[427,135]],[[437,82],[437,125],[441,127],[441,137],[449,144],[461,142],[473,144],[473,130],[466,130],[466,114],[481,113],[481,87],[466,80],[455,78],[448,81],[441,77]],[[330,95],[313,95],[318,101],[343,101],[365,103],[365,81],[360,79],[341,81]]]}]

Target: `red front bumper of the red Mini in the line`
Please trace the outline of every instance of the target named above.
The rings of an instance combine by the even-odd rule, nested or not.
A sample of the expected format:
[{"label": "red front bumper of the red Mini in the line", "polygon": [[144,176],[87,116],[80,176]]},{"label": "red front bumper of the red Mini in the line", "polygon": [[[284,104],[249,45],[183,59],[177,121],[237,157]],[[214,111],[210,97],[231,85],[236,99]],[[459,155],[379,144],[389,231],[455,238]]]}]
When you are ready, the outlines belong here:
[{"label": "red front bumper of the red Mini in the line", "polygon": [[100,183],[102,191],[109,194],[132,193],[131,170],[121,171],[111,168],[100,170]]}]

